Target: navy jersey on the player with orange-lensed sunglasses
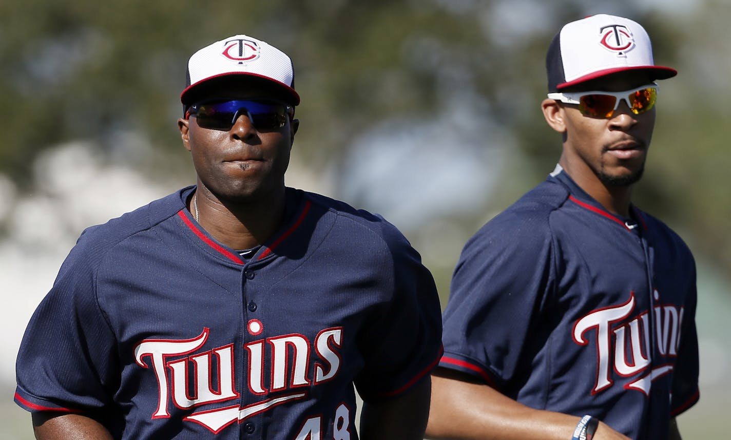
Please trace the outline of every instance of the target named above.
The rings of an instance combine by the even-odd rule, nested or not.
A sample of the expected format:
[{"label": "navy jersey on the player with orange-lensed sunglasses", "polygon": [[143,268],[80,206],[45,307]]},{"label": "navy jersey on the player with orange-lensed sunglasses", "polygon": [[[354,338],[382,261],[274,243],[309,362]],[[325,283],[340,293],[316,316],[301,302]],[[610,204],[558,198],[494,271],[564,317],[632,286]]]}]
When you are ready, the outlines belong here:
[{"label": "navy jersey on the player with orange-lensed sunglasses", "polygon": [[440,366],[535,409],[667,439],[698,399],[695,264],[667,226],[608,213],[557,167],[469,240]]}]

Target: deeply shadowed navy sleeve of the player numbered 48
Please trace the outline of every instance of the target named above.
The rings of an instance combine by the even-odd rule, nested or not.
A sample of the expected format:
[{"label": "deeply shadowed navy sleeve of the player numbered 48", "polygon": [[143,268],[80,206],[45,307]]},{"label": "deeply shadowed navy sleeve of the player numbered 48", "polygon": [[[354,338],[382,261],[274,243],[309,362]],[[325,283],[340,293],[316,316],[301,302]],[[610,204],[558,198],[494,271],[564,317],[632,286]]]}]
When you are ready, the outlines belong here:
[{"label": "deeply shadowed navy sleeve of the player numbered 48", "polygon": [[360,336],[365,365],[355,386],[366,401],[409,390],[442,354],[442,309],[433,277],[400,233],[391,231],[387,240],[393,269],[383,276],[390,300]]}]

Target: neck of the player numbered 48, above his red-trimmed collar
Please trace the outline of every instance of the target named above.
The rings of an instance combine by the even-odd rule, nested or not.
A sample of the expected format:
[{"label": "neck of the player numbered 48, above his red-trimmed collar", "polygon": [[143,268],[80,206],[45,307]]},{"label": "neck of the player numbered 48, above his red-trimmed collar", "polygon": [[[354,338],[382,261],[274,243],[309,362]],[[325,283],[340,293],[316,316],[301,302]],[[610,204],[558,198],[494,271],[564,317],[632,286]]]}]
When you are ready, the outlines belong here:
[{"label": "neck of the player numbered 48, above his red-trimmed collar", "polygon": [[[231,249],[251,249],[264,244],[284,220],[284,188],[255,200],[221,200],[199,186],[192,198],[192,212],[198,223],[220,243]],[[197,205],[197,210],[195,207]]]}]

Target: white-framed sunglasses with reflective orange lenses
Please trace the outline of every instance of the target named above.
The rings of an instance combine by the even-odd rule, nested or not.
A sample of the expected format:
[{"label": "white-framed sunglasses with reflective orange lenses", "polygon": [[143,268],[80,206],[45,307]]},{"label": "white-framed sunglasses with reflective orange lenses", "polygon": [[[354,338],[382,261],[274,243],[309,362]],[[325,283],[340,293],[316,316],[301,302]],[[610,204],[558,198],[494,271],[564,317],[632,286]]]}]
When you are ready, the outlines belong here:
[{"label": "white-framed sunglasses with reflective orange lenses", "polygon": [[655,106],[657,100],[657,85],[638,87],[628,91],[580,91],[573,93],[550,93],[549,99],[556,99],[566,104],[579,105],[582,115],[591,118],[611,118],[624,99],[629,110],[635,115],[645,113]]}]

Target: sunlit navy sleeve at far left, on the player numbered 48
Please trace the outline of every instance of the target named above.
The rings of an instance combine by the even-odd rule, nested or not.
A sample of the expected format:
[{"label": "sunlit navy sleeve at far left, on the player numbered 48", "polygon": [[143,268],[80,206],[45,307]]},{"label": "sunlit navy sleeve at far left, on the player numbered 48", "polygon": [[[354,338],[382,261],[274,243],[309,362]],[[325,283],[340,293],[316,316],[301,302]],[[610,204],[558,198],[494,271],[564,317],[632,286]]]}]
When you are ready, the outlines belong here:
[{"label": "sunlit navy sleeve at far left, on the player numbered 48", "polygon": [[77,245],[26,327],[15,401],[28,411],[98,411],[118,387],[114,335],[96,303],[92,261]]}]

